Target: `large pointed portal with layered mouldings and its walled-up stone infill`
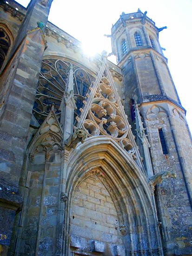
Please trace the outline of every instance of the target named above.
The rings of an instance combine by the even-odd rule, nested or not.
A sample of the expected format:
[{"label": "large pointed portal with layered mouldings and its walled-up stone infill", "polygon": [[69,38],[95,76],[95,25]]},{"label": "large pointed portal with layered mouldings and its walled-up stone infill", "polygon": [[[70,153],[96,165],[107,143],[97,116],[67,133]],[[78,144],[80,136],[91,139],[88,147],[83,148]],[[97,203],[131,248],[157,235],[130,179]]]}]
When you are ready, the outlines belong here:
[{"label": "large pointed portal with layered mouldings and its walled-up stone infill", "polygon": [[162,255],[150,187],[113,138],[78,145],[66,178],[64,255]]}]

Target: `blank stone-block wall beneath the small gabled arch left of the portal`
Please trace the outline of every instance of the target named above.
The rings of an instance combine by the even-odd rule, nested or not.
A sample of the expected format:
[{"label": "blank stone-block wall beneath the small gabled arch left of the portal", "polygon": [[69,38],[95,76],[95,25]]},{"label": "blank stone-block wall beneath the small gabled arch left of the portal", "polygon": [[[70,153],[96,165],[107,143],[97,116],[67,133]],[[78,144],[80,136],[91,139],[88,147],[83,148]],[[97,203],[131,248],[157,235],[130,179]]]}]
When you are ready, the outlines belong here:
[{"label": "blank stone-block wall beneath the small gabled arch left of the portal", "polygon": [[[35,154],[29,161],[26,185],[21,188],[24,207],[8,255],[53,256],[57,249],[60,201],[60,153]],[[20,232],[18,232],[18,229]],[[14,248],[17,248],[14,251]]]}]

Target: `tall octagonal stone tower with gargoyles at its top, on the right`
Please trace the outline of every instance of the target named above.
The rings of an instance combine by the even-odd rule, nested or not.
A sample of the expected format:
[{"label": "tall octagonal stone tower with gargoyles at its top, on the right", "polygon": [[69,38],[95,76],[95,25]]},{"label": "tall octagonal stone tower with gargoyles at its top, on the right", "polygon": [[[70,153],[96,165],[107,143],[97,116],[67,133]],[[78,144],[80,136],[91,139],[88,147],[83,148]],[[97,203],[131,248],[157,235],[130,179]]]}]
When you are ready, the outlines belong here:
[{"label": "tall octagonal stone tower with gargoyles at its top, on the right", "polygon": [[[185,109],[159,44],[159,32],[166,27],[156,27],[146,13],[138,9],[136,13],[120,15],[110,35],[112,50],[122,69],[126,114],[146,169],[150,160],[153,175],[177,175],[176,179],[152,184],[164,253],[191,255],[192,139]],[[135,125],[138,111],[145,127],[143,134]],[[148,159],[139,132],[140,136],[148,135]],[[151,174],[148,173],[149,181]]]}]

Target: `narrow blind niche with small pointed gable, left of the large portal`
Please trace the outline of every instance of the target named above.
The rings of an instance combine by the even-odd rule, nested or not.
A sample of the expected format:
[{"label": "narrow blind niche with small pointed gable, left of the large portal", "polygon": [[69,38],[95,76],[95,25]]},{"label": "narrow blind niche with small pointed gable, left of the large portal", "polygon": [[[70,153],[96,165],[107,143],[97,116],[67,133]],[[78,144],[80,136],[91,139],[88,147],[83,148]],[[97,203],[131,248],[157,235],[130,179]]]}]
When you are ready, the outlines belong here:
[{"label": "narrow blind niche with small pointed gable, left of the large portal", "polygon": [[26,152],[20,180],[24,205],[13,237],[17,253],[47,255],[56,253],[58,205],[62,162],[59,122],[51,111],[33,137]]}]

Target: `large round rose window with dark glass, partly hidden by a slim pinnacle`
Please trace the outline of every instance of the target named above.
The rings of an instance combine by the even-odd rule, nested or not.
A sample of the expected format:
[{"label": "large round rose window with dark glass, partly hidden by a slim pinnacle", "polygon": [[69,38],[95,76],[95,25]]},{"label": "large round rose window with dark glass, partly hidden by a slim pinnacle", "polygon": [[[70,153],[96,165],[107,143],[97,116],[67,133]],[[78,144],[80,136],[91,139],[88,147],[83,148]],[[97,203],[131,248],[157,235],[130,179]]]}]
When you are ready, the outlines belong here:
[{"label": "large round rose window with dark glass, partly hidden by a slim pinnacle", "polygon": [[[66,88],[70,63],[61,60],[44,60],[42,62],[39,85],[36,92],[33,115],[41,124],[51,110],[51,105],[55,105],[56,115],[60,118],[60,103]],[[73,83],[74,98],[77,109],[75,117],[81,114],[80,108],[83,108],[83,101],[86,100],[86,94],[90,93],[93,77],[85,70],[73,65]]]}]

